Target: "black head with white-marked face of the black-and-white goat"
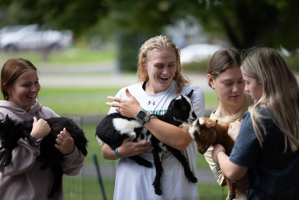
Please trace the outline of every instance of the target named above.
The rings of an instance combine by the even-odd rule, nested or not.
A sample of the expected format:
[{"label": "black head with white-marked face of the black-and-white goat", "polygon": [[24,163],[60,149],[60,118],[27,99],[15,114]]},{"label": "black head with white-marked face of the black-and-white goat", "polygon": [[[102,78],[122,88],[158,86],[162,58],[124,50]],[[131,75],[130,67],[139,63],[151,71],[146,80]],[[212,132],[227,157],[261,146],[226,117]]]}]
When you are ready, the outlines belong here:
[{"label": "black head with white-marked face of the black-and-white goat", "polygon": [[168,110],[176,121],[183,123],[184,121],[188,121],[188,119],[193,121],[197,118],[190,100],[192,94],[193,90],[189,94],[181,95],[171,100]]}]

